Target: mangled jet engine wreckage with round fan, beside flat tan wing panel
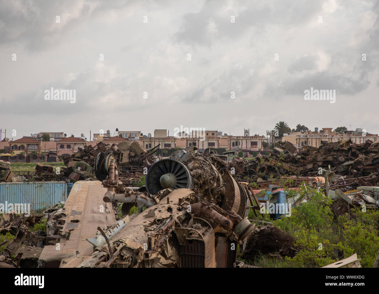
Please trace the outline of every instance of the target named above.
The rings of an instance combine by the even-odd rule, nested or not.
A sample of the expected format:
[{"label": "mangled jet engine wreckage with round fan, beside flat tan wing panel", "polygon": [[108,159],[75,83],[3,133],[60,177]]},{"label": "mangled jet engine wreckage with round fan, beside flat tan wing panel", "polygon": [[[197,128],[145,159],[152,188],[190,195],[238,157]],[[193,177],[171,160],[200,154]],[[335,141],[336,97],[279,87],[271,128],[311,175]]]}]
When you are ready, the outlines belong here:
[{"label": "mangled jet engine wreckage with round fan, beside flat tan wing panel", "polygon": [[[88,239],[93,253],[76,256],[83,260],[78,267],[243,267],[238,245],[255,228],[247,219],[248,190],[226,164],[177,150],[154,163],[137,189],[119,185],[112,152],[99,153],[96,175],[108,189],[103,201],[123,203],[124,217],[98,228]],[[128,216],[134,205],[139,212]]]}]

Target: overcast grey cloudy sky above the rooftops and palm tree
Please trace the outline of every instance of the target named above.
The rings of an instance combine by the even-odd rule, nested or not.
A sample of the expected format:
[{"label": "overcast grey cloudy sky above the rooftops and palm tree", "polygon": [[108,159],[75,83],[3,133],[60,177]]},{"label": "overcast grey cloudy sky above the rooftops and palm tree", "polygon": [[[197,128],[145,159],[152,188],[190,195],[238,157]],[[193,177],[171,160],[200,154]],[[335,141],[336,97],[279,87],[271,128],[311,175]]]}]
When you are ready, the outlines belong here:
[{"label": "overcast grey cloudy sky above the rooftops and palm tree", "polygon": [[[0,62],[7,137],[266,135],[279,120],[379,133],[378,1],[4,0]],[[51,87],[76,102],[45,100]],[[335,90],[335,103],[305,100],[311,87]]]}]

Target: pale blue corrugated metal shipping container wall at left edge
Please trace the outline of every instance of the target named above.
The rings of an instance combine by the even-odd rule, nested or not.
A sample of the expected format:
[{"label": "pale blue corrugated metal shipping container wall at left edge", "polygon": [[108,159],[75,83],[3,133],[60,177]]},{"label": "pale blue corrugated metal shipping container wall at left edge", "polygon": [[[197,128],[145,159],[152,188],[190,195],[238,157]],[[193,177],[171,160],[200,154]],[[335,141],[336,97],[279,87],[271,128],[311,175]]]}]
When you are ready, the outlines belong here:
[{"label": "pale blue corrugated metal shipping container wall at left edge", "polygon": [[67,200],[66,182],[0,183],[0,203],[30,203],[31,211],[45,210]]}]

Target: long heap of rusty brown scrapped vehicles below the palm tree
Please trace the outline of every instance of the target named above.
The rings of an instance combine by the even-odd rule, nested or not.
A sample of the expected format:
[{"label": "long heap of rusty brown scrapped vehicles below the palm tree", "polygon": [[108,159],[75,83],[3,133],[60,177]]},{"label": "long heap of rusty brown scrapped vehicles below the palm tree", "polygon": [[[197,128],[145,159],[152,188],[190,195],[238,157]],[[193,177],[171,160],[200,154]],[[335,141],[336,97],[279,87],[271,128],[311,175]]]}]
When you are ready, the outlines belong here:
[{"label": "long heap of rusty brown scrapped vehicles below the palm tree", "polygon": [[296,147],[290,142],[280,141],[277,145],[279,147],[270,151],[269,156],[259,155],[250,161],[234,158],[230,166],[240,177],[253,177],[255,182],[282,175],[315,177],[323,169],[342,176],[340,180],[351,180],[352,188],[362,184],[374,185],[379,181],[379,142],[368,140],[353,144],[347,140],[324,143],[320,147],[304,145],[296,153]]}]

